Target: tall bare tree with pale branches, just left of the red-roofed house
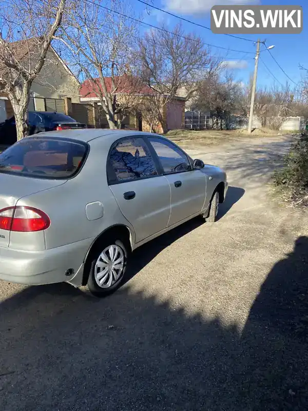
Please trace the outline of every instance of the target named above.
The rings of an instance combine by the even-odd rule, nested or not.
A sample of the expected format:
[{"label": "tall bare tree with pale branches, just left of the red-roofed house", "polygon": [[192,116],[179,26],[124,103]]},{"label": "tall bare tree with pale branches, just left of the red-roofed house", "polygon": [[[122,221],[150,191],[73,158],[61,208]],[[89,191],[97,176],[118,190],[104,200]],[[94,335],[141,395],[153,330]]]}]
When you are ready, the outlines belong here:
[{"label": "tall bare tree with pale branches, just left of the red-roofed house", "polygon": [[76,3],[60,39],[66,60],[84,80],[88,95],[99,99],[110,128],[121,128],[142,89],[129,64],[137,28],[128,14],[124,0]]}]

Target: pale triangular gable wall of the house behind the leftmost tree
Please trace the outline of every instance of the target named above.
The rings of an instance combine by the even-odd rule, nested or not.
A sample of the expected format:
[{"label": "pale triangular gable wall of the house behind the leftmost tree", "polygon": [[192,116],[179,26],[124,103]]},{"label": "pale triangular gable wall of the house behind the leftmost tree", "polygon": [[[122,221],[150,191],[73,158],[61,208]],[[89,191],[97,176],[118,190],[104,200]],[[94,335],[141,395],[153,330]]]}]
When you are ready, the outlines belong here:
[{"label": "pale triangular gable wall of the house behind the leftmost tree", "polygon": [[74,103],[80,103],[79,89],[79,82],[65,68],[57,55],[49,50],[46,63],[31,86],[35,97],[54,99],[70,97]]}]

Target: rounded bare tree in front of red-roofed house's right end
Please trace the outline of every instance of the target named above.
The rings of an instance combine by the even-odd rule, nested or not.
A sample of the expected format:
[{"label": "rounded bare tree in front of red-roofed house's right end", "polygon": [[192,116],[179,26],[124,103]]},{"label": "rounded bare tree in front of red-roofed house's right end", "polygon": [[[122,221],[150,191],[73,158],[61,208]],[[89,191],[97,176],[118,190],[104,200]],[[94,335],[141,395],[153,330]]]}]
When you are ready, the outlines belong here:
[{"label": "rounded bare tree in front of red-roofed house's right end", "polygon": [[139,40],[136,65],[140,77],[154,91],[142,106],[143,118],[147,118],[151,131],[158,121],[166,131],[163,110],[181,88],[187,88],[185,97],[190,97],[193,88],[187,85],[196,83],[209,60],[200,37],[185,34],[181,25],[173,32],[162,26],[161,30],[146,32]]}]

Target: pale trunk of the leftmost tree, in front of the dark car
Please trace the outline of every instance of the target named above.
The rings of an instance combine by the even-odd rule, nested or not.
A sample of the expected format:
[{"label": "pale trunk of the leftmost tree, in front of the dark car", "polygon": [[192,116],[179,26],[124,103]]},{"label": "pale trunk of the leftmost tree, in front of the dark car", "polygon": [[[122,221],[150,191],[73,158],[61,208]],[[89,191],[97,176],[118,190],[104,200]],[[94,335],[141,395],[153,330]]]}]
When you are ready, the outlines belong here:
[{"label": "pale trunk of the leftmost tree, in front of the dark car", "polygon": [[13,93],[9,93],[9,99],[13,107],[17,141],[28,137],[28,104],[30,99],[30,86],[25,84],[22,89],[15,87]]}]

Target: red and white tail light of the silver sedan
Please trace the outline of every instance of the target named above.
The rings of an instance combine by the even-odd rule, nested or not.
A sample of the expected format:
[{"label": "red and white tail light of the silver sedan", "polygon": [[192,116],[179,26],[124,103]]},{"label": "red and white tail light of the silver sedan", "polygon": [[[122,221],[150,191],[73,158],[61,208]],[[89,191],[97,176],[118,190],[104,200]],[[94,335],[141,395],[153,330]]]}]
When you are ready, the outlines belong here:
[{"label": "red and white tail light of the silver sedan", "polygon": [[0,210],[0,229],[32,232],[46,230],[50,226],[47,214],[33,207],[15,206]]}]

